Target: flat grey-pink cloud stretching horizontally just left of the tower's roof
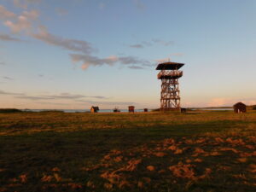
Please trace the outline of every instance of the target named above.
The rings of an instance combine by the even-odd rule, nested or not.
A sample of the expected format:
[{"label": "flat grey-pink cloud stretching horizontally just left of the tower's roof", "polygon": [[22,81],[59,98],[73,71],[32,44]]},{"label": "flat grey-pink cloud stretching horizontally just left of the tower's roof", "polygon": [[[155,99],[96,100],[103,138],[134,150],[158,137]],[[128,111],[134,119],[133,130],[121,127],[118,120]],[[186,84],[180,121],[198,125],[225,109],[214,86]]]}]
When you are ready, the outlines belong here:
[{"label": "flat grey-pink cloud stretching horizontally just left of the tower's roof", "polygon": [[138,59],[133,56],[121,56],[111,55],[107,58],[99,58],[92,55],[80,55],[80,54],[70,54],[73,62],[82,62],[82,69],[87,69],[90,66],[113,66],[116,63],[123,65],[148,65],[149,62],[145,60]]}]

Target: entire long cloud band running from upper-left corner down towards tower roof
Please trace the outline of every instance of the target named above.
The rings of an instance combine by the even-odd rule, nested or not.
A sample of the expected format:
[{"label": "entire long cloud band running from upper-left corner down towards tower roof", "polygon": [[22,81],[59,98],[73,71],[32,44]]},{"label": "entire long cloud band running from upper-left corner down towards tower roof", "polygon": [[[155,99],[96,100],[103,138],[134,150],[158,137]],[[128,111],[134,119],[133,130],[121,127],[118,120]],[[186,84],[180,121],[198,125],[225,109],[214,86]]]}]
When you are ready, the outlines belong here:
[{"label": "entire long cloud band running from upper-left corner down towards tower roof", "polygon": [[[91,55],[96,52],[96,49],[94,49],[89,42],[72,38],[61,38],[60,36],[48,32],[45,26],[38,26],[39,13],[36,10],[23,11],[21,15],[13,15],[7,9],[2,9],[2,12],[5,13],[4,15],[8,15],[9,18],[12,18],[12,20],[4,21],[4,25],[8,26],[12,32],[25,32],[25,35],[31,38],[36,38],[45,44],[72,51],[73,53],[69,54],[71,60],[73,62],[82,62],[81,68],[83,70],[90,66],[113,66],[116,63],[133,66],[150,66],[148,61],[134,56],[118,57],[110,55],[106,58],[100,58],[96,55]],[[149,45],[150,43],[143,42],[143,44]]]}]

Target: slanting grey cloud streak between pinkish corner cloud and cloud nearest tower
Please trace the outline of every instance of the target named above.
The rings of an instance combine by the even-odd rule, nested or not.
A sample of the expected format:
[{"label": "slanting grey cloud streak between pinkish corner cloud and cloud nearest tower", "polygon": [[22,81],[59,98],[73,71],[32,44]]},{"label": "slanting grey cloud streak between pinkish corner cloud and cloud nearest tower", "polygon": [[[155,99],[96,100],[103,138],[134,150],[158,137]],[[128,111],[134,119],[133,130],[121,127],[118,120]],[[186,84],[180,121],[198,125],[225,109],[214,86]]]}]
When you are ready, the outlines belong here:
[{"label": "slanting grey cloud streak between pinkish corner cloud and cloud nearest tower", "polygon": [[45,27],[40,27],[39,32],[32,34],[33,38],[43,41],[46,44],[52,44],[63,49],[82,52],[84,54],[90,54],[95,51],[90,43],[83,40],[61,38],[47,32]]}]

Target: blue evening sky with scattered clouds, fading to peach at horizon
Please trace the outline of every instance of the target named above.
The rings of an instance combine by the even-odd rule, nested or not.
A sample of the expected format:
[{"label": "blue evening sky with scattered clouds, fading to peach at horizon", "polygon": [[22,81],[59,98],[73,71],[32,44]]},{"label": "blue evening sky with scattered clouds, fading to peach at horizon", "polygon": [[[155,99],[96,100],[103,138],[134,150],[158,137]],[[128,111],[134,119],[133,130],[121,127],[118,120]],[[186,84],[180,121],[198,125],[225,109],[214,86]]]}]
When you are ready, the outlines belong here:
[{"label": "blue evening sky with scattered clouds, fading to peach at horizon", "polygon": [[163,61],[182,107],[252,105],[255,56],[255,0],[0,0],[0,108],[159,108]]}]

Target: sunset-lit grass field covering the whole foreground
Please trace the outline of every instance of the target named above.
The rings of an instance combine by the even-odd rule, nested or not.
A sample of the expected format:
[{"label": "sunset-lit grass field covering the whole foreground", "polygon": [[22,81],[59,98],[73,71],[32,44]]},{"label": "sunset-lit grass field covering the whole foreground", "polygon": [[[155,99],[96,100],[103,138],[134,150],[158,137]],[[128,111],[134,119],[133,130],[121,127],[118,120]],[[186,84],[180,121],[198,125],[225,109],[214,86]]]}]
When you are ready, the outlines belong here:
[{"label": "sunset-lit grass field covering the whole foreground", "polygon": [[3,191],[255,191],[256,113],[0,113]]}]

